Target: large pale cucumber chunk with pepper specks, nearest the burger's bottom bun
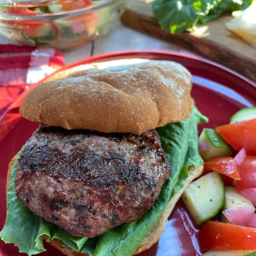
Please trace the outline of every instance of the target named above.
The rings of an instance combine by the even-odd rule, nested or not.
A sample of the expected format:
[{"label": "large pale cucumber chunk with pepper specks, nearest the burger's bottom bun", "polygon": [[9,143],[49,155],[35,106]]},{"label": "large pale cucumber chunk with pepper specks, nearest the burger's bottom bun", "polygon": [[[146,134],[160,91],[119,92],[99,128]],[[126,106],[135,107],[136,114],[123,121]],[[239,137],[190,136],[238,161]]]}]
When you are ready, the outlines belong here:
[{"label": "large pale cucumber chunk with pepper specks, nearest the burger's bottom bun", "polygon": [[216,172],[201,176],[185,189],[182,200],[196,223],[201,226],[216,216],[225,199],[225,185]]}]

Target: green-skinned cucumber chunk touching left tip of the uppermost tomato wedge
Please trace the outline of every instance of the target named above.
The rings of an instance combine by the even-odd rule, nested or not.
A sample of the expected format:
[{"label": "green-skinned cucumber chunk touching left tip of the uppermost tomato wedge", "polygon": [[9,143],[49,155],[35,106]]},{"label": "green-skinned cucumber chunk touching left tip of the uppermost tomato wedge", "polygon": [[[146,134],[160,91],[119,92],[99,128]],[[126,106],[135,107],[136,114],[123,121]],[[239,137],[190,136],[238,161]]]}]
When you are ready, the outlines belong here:
[{"label": "green-skinned cucumber chunk touching left tip of the uppermost tomato wedge", "polygon": [[214,130],[204,128],[199,137],[199,153],[207,161],[216,157],[232,156],[232,148]]}]

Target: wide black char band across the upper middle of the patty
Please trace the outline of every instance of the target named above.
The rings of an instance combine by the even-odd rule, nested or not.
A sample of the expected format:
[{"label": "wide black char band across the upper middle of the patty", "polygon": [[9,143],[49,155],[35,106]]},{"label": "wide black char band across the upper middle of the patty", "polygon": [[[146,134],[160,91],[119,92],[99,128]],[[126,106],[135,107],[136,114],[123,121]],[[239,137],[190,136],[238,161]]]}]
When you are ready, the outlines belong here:
[{"label": "wide black char band across the upper middle of the patty", "polygon": [[[102,184],[105,186],[111,185],[113,170],[124,183],[136,184],[136,181],[144,176],[138,164],[132,162],[126,165],[126,160],[113,151],[110,151],[110,158],[106,158],[96,155],[91,150],[74,151],[70,155],[63,155],[58,148],[49,148],[47,145],[32,148],[32,151],[25,148],[24,154],[20,157],[20,165],[30,174],[44,172],[58,179],[67,178],[95,185],[103,181]],[[110,166],[112,168],[109,168]],[[109,180],[98,180],[102,173],[109,174]]]}]

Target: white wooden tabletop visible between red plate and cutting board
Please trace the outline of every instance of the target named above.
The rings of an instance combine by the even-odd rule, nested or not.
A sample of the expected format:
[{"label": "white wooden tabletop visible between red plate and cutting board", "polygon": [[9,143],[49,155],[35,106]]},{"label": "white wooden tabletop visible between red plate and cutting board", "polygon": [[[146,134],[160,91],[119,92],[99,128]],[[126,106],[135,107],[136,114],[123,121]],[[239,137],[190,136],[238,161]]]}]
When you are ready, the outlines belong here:
[{"label": "white wooden tabletop visible between red plate and cutting board", "polygon": [[[8,38],[0,35],[0,44],[15,44]],[[93,42],[71,50],[62,51],[66,65],[92,55],[125,50],[162,50],[190,53],[187,50],[166,41],[144,35],[140,32],[123,26],[118,22],[106,35]],[[190,53],[192,54],[192,53]]]}]

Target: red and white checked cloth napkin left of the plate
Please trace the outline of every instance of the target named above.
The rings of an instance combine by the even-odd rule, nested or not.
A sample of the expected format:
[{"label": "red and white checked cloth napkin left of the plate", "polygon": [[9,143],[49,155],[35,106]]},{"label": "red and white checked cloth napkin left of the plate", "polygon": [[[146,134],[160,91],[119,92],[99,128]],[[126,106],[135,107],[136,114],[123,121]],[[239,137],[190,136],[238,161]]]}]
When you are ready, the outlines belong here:
[{"label": "red and white checked cloth napkin left of the plate", "polygon": [[0,141],[20,116],[15,100],[33,84],[65,65],[52,48],[0,45]]}]

